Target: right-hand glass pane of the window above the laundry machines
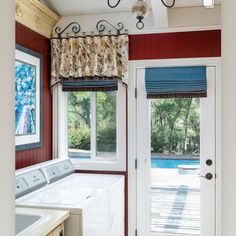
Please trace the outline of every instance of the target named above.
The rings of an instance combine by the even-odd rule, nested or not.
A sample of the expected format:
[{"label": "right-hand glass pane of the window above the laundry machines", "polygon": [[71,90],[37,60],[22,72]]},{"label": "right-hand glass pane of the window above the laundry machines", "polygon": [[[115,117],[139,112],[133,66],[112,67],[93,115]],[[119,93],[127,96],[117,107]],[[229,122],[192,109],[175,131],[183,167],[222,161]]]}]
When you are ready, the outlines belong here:
[{"label": "right-hand glass pane of the window above the laundry machines", "polygon": [[97,92],[97,157],[116,155],[116,92]]}]

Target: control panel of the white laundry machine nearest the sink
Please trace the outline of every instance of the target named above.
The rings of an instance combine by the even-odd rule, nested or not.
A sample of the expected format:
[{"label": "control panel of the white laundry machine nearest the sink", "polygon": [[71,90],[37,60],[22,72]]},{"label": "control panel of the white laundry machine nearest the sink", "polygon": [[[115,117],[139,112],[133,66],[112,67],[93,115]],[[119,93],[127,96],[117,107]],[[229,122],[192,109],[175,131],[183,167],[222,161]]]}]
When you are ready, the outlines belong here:
[{"label": "control panel of the white laundry machine nearest the sink", "polygon": [[21,197],[47,184],[46,177],[40,169],[16,175],[15,197]]}]

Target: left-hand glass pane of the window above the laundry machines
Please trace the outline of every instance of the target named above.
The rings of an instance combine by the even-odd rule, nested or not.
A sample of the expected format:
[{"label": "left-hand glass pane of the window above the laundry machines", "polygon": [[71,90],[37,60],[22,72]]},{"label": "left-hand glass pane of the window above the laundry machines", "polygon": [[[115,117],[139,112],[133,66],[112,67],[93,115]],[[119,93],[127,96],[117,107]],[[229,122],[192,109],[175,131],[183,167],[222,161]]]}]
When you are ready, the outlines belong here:
[{"label": "left-hand glass pane of the window above the laundry machines", "polygon": [[90,159],[90,92],[68,93],[68,156]]}]

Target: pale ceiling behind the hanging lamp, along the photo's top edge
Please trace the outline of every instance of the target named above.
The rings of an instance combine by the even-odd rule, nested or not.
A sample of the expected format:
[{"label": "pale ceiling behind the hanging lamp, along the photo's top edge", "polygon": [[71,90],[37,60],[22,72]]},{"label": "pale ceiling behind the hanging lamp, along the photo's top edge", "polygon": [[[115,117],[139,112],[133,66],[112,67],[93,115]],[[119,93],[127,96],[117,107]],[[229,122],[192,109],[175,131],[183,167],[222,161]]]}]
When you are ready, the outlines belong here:
[{"label": "pale ceiling behind the hanging lamp, along the photo's top edge", "polygon": [[[115,4],[117,0],[110,0],[111,4]],[[146,0],[152,7],[153,0]],[[161,1],[161,0],[155,0]],[[172,0],[166,0],[167,2]],[[111,9],[107,5],[107,0],[43,0],[49,8],[57,12],[61,16],[99,14],[130,11],[135,0],[121,0],[118,7]],[[202,6],[203,0],[176,0],[175,7],[194,7]],[[221,0],[215,0],[215,4],[220,4]]]}]

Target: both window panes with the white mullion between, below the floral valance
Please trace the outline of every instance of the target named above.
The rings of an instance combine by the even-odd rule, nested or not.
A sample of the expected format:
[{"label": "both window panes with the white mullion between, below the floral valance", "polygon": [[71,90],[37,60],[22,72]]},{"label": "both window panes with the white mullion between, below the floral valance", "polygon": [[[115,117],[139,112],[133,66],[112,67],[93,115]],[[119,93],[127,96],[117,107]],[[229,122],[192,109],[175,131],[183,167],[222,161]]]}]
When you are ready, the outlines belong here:
[{"label": "both window panes with the white mullion between, below the floral valance", "polygon": [[116,160],[116,92],[69,92],[68,156]]}]

